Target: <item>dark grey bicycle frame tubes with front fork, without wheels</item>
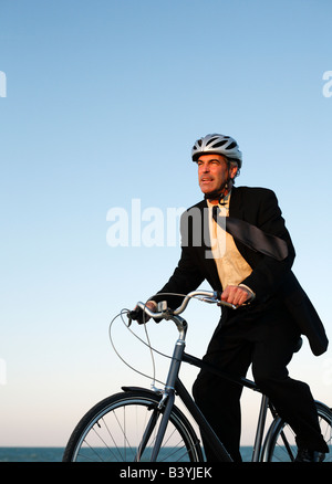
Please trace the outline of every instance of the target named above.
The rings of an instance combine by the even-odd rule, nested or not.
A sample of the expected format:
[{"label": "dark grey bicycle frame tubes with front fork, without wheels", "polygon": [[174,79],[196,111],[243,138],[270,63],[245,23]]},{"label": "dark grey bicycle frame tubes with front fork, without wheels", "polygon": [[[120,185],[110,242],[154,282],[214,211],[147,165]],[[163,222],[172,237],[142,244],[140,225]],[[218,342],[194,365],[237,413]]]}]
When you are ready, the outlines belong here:
[{"label": "dark grey bicycle frame tubes with front fork, without wheels", "polygon": [[[165,430],[167,427],[168,418],[172,412],[172,408],[174,406],[175,400],[175,393],[179,396],[183,403],[187,408],[188,412],[191,414],[196,423],[199,425],[200,433],[204,435],[205,440],[209,443],[209,445],[216,451],[216,460],[218,461],[229,461],[231,462],[232,459],[228,454],[227,450],[225,449],[224,444],[220,442],[211,427],[209,425],[208,421],[199,410],[199,408],[196,406],[194,399],[191,398],[190,393],[187,391],[183,382],[180,381],[178,373],[180,369],[181,361],[188,362],[189,365],[193,365],[198,368],[205,368],[219,377],[230,380],[235,383],[241,385],[242,387],[247,387],[251,390],[260,392],[257,385],[248,380],[247,378],[234,378],[230,375],[220,371],[218,368],[214,367],[212,365],[203,361],[199,358],[196,358],[191,355],[188,355],[185,353],[185,338],[186,338],[186,332],[187,332],[187,323],[185,319],[183,319],[180,316],[168,316],[168,319],[172,319],[178,330],[179,330],[179,338],[176,341],[174,354],[172,358],[172,362],[168,370],[168,376],[164,389],[163,398],[159,402],[158,408],[164,409],[160,427],[158,429],[158,433],[156,436],[155,445],[153,449],[152,454],[152,462],[155,462],[162,445],[162,441],[165,434]],[[274,410],[269,403],[269,399],[262,394],[261,399],[261,406],[260,406],[260,412],[258,418],[258,425],[257,425],[257,432],[255,438],[255,445],[253,445],[253,452],[252,452],[252,462],[259,462],[260,455],[261,455],[261,449],[262,449],[262,439],[263,439],[263,431],[266,425],[266,417],[267,417],[267,410],[270,407],[272,414],[274,415]],[[149,427],[149,425],[148,425]],[[148,430],[147,430],[148,432]],[[142,444],[144,446],[144,443]]]}]

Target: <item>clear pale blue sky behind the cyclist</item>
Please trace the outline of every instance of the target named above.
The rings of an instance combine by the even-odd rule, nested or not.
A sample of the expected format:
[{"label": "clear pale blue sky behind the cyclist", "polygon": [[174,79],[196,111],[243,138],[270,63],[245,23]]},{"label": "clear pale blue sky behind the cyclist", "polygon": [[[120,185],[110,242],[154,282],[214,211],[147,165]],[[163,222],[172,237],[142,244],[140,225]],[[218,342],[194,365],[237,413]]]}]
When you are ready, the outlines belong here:
[{"label": "clear pale blue sky behind the cyclist", "polygon": [[[276,191],[331,339],[331,13],[330,0],[0,1],[0,445],[64,445],[101,398],[149,385],[115,357],[108,323],[159,290],[179,250],[111,248],[106,218],[131,221],[136,199],[164,215],[198,201],[190,148],[207,133],[238,140],[238,185]],[[203,354],[218,309],[193,306],[188,350]],[[170,351],[175,330],[149,329]],[[116,335],[139,366],[145,350]],[[329,353],[305,343],[290,368],[331,398]]]}]

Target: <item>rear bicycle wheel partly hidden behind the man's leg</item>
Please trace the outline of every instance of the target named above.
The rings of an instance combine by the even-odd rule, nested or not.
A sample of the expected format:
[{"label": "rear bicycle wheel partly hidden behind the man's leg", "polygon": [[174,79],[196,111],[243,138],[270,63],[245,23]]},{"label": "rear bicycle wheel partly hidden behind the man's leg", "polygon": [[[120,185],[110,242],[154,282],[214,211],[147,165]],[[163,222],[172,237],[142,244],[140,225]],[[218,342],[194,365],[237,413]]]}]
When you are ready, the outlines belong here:
[{"label": "rear bicycle wheel partly hidden behind the man's leg", "polygon": [[[322,435],[330,449],[323,462],[332,462],[332,410],[315,401]],[[294,432],[290,425],[277,417],[270,425],[262,450],[262,462],[293,462],[297,455]]]}]

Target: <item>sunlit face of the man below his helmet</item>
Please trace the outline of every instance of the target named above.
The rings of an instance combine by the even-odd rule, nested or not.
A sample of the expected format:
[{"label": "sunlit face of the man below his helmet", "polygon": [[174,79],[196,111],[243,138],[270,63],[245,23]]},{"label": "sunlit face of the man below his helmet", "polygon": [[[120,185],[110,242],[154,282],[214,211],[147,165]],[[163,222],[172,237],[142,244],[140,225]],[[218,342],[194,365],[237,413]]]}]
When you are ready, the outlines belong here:
[{"label": "sunlit face of the man below his helmet", "polygon": [[221,155],[201,155],[198,160],[198,182],[203,193],[220,190],[236,168],[228,171],[226,158]]}]

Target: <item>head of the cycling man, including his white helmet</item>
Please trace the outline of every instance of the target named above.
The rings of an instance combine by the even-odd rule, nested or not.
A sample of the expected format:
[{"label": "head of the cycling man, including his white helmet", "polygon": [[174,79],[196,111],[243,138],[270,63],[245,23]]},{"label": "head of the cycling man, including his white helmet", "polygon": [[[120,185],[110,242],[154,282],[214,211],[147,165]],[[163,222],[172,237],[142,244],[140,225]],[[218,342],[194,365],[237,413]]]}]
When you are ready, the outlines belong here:
[{"label": "head of the cycling man, including his white helmet", "polygon": [[242,166],[241,151],[230,136],[216,134],[198,139],[191,157],[198,165],[198,182],[205,194],[230,189]]}]

